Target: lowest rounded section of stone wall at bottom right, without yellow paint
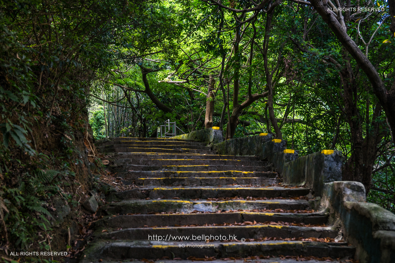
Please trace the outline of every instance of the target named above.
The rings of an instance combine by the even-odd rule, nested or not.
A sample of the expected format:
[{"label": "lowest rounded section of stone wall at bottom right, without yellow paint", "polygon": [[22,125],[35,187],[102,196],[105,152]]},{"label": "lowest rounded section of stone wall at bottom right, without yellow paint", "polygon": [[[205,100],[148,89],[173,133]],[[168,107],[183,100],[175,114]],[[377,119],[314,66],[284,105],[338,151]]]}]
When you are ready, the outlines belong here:
[{"label": "lowest rounded section of stone wall at bottom right, without yellow paint", "polygon": [[324,184],[322,205],[342,221],[342,233],[356,249],[361,263],[395,262],[395,215],[366,203],[360,182]]}]

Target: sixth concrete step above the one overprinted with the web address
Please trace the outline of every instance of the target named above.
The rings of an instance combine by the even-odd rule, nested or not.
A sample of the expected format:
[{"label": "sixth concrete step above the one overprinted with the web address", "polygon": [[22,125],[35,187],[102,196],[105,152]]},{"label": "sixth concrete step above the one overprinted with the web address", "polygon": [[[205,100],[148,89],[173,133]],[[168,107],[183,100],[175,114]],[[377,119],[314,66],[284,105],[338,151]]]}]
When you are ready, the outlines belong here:
[{"label": "sixth concrete step above the one overprinted with the web address", "polygon": [[271,171],[271,167],[265,166],[245,166],[245,165],[218,165],[218,164],[204,164],[204,165],[119,165],[113,167],[113,173],[122,173],[125,171]]}]

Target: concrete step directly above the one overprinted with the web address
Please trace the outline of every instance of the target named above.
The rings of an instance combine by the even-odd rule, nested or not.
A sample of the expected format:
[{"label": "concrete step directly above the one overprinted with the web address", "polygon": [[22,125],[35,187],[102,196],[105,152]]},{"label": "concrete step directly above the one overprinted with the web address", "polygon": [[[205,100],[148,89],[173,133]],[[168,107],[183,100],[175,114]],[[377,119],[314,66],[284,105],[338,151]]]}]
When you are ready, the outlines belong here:
[{"label": "concrete step directly above the one overprinted with the web address", "polygon": [[321,213],[259,213],[229,212],[202,214],[137,214],[108,217],[96,221],[95,229],[119,229],[148,226],[205,225],[234,222],[290,222],[304,224],[325,224],[327,215]]}]

